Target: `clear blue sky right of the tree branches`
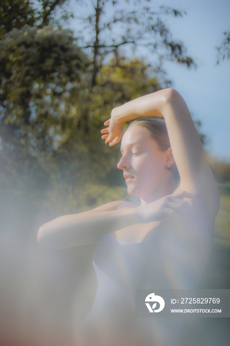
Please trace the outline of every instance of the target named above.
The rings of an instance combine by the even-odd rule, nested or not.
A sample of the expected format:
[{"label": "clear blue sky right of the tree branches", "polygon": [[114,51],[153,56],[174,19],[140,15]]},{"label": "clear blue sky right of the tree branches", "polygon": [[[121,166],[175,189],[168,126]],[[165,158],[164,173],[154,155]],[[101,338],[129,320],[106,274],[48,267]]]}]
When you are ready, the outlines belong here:
[{"label": "clear blue sky right of the tree branches", "polygon": [[[202,132],[209,140],[207,146],[212,156],[230,161],[230,60],[217,65],[216,46],[230,31],[230,0],[162,0],[159,5],[186,10],[183,18],[165,17],[173,38],[182,40],[198,64],[188,70],[176,63],[167,62],[164,68],[173,87],[184,97],[193,119],[202,122]],[[71,0],[72,10],[74,1]],[[76,21],[70,22],[74,30]],[[150,54],[144,53],[151,62]]]}]

